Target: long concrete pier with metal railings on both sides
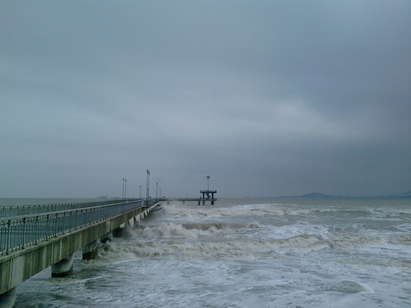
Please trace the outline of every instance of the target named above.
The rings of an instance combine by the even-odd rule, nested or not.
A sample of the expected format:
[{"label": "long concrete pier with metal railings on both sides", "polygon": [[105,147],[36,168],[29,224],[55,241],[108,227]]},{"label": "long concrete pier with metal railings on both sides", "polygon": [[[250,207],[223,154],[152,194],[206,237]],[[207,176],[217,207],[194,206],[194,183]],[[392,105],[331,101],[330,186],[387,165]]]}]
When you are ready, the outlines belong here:
[{"label": "long concrete pier with metal railings on both sides", "polygon": [[97,254],[99,242],[120,237],[160,205],[157,199],[0,208],[0,308],[13,307],[15,288],[51,266],[52,277],[73,271],[73,254]]}]

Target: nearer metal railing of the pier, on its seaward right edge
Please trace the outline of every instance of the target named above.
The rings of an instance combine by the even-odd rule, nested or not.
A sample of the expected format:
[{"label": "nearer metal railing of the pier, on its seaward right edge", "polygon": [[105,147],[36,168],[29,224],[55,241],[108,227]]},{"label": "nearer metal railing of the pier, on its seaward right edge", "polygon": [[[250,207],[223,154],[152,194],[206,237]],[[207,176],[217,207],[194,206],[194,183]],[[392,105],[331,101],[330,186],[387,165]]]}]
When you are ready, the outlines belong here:
[{"label": "nearer metal railing of the pier, on its seaward right edge", "polygon": [[41,241],[61,236],[64,233],[89,224],[104,221],[142,207],[143,202],[127,201],[105,205],[31,214],[0,219],[0,255],[36,245]]}]

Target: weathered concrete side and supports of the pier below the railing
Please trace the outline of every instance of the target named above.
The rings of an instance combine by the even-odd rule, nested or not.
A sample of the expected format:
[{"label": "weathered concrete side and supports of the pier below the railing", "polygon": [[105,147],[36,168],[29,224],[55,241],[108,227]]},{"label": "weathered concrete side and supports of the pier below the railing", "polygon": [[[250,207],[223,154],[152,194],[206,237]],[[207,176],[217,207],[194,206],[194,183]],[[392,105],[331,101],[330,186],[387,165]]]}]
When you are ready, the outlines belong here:
[{"label": "weathered concrete side and supports of the pier below the railing", "polygon": [[[73,271],[73,254],[77,250],[82,250],[84,259],[95,257],[100,240],[109,240],[112,233],[113,236],[123,235],[124,228],[130,220],[140,221],[158,205],[159,203],[144,207],[129,207],[115,216],[68,229],[54,237],[32,242],[31,245],[0,256],[0,308],[14,305],[15,288],[26,279],[49,266],[52,267],[53,277],[69,274]],[[98,208],[96,211],[103,209],[103,207]],[[85,210],[84,215],[89,212],[89,209]]]}]

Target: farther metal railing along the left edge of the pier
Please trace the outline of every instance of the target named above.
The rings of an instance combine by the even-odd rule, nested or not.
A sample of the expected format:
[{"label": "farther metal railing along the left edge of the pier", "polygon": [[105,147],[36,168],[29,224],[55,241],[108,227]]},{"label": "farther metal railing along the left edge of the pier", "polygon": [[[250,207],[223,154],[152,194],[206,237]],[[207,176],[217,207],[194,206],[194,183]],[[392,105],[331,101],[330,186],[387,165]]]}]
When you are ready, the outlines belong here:
[{"label": "farther metal railing along the left edge of the pier", "polygon": [[[124,202],[126,200],[106,200],[106,201],[93,201],[93,202],[81,202],[81,203],[53,203],[53,204],[32,204],[32,205],[9,205],[0,207],[0,219],[4,217],[14,217],[22,215],[30,215],[37,213],[49,213],[57,211],[66,211],[87,207],[94,207],[99,205],[108,205],[113,203]],[[139,199],[130,199],[129,202],[139,201]]]}]

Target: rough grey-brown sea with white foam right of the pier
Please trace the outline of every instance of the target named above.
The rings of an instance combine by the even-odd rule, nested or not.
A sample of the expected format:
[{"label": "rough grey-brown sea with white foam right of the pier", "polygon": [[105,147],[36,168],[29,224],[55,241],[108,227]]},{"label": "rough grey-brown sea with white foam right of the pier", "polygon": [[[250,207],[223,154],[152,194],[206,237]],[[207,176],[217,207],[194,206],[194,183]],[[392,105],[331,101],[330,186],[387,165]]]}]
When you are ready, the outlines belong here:
[{"label": "rough grey-brown sea with white foam right of the pier", "polygon": [[411,199],[163,202],[16,307],[411,307]]}]

